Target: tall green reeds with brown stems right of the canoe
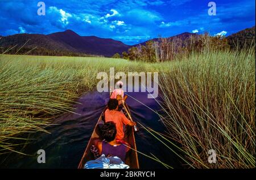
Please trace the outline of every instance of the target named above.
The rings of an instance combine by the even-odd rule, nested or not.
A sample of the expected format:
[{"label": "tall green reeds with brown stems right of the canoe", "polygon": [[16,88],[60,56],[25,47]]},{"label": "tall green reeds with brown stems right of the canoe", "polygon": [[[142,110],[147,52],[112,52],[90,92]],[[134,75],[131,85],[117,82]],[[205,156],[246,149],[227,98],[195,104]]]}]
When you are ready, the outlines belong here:
[{"label": "tall green reeds with brown stems right of the canoe", "polygon": [[168,138],[155,135],[180,144],[188,167],[255,168],[255,47],[192,54],[159,87]]}]

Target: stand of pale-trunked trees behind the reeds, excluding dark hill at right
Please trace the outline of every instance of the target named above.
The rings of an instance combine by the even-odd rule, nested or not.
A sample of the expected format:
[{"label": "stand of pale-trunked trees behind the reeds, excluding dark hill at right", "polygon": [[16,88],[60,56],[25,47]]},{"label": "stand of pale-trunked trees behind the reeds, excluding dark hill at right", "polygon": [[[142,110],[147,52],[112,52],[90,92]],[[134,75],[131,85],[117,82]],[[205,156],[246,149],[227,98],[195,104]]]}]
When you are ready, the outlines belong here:
[{"label": "stand of pale-trunked trees behind the reeds, excluding dark hill at right", "polygon": [[[228,40],[222,36],[191,35],[184,37],[160,37],[155,41],[147,41],[146,45],[139,44],[128,52],[122,53],[122,58],[146,62],[164,62],[175,58],[188,56],[192,52],[215,51],[228,48]],[[115,55],[118,57],[118,55]]]}]

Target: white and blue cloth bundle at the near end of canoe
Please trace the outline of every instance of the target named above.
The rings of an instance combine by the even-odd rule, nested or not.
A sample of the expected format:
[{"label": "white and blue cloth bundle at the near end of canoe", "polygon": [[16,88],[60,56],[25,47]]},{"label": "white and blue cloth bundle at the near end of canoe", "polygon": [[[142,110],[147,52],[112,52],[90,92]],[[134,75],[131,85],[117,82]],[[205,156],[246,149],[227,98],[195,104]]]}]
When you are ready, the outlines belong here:
[{"label": "white and blue cloth bundle at the near end of canoe", "polygon": [[84,169],[128,169],[129,165],[126,165],[121,158],[117,156],[106,157],[102,154],[101,157],[96,160],[88,161],[84,165]]}]

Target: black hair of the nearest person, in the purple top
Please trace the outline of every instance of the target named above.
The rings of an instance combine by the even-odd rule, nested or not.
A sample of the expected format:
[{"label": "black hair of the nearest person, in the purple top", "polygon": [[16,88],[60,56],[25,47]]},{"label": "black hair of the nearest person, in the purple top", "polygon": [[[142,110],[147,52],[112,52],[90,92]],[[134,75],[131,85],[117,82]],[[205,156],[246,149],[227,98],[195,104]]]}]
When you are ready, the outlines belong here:
[{"label": "black hair of the nearest person, in the purple top", "polygon": [[117,128],[115,127],[114,122],[107,122],[101,127],[101,133],[102,137],[108,141],[111,142],[115,139],[115,136],[117,135]]}]

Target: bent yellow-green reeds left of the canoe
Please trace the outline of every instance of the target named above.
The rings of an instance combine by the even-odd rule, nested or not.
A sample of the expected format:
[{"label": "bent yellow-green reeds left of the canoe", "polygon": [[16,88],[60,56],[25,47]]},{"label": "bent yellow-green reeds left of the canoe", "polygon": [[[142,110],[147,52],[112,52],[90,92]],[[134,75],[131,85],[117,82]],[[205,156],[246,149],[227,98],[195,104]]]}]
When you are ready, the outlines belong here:
[{"label": "bent yellow-green reeds left of the canoe", "polygon": [[101,57],[0,56],[0,154],[19,152],[17,140],[44,131],[53,116],[96,87],[98,72],[143,69],[139,62]]}]

